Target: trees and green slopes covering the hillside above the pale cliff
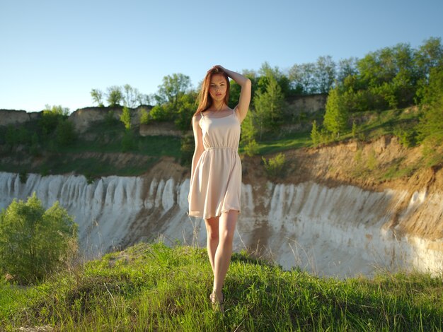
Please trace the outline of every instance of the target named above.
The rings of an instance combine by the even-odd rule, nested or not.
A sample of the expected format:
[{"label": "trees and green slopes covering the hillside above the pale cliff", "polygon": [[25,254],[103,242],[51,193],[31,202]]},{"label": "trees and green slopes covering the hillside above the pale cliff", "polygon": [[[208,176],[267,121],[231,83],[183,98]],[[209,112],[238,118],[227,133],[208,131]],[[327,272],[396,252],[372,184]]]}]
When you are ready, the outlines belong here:
[{"label": "trees and green slopes covering the hillside above the pale cliff", "polygon": [[[398,44],[338,64],[330,57],[319,57],[313,64],[294,65],[289,73],[265,63],[258,72],[244,74],[253,82],[253,99],[242,124],[240,153],[268,155],[264,165],[272,165],[266,159],[285,150],[338,141],[368,142],[386,135],[396,136],[405,148],[424,146],[420,167],[443,162],[439,38],[426,40],[418,49]],[[91,91],[106,116],[86,132],[75,130],[68,110],[61,106],[47,106],[33,121],[0,127],[0,170],[19,172],[23,180],[29,172],[74,172],[92,181],[110,174],[143,174],[163,156],[190,165],[194,149],[190,119],[197,90],[191,88],[188,76],[166,76],[150,99],[130,85],[124,88],[125,93],[117,86],[108,89],[110,107],[103,105],[100,90]],[[239,92],[232,82],[231,107]],[[323,110],[294,107],[294,98],[312,93],[328,93]],[[137,103],[149,100],[156,105],[135,112]],[[120,107],[120,117],[115,116],[115,107]],[[161,126],[163,122],[173,123],[183,136],[140,136],[140,124]]]}]

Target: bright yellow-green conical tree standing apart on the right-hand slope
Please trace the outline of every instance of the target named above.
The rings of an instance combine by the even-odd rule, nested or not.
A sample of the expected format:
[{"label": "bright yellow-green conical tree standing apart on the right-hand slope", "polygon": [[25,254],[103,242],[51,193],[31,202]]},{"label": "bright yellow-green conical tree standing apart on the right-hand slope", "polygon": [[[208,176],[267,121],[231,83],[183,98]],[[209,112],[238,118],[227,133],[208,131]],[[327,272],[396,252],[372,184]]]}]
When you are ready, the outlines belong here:
[{"label": "bright yellow-green conical tree standing apart on the right-hand slope", "polygon": [[326,102],[326,113],[323,119],[323,126],[330,133],[337,137],[347,129],[347,119],[349,115],[343,102],[340,100],[338,88],[329,91],[328,100]]}]

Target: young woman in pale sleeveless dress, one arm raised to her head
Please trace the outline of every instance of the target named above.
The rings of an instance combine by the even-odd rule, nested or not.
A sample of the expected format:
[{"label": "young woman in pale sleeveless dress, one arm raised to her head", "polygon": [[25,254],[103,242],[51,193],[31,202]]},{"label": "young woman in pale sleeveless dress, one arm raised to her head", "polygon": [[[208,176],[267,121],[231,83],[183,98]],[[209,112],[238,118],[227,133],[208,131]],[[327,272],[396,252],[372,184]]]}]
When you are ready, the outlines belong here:
[{"label": "young woman in pale sleeveless dress, one arm raised to her head", "polygon": [[[229,78],[241,86],[240,99],[229,108]],[[207,71],[200,103],[192,117],[195,152],[192,158],[189,215],[205,219],[207,252],[214,272],[210,299],[223,309],[222,287],[232,254],[240,213],[240,124],[251,101],[251,81],[234,71],[214,66]]]}]

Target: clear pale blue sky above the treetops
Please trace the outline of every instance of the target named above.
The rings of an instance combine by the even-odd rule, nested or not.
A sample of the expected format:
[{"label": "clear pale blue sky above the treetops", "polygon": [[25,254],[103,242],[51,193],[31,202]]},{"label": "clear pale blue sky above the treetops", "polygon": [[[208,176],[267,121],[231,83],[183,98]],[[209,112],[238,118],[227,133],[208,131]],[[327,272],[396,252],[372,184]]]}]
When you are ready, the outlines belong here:
[{"label": "clear pale blue sky above the treetops", "polygon": [[91,89],[156,93],[163,76],[282,70],[443,36],[442,0],[0,0],[0,109],[74,111]]}]

